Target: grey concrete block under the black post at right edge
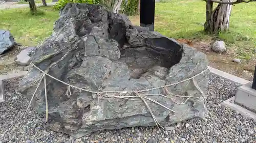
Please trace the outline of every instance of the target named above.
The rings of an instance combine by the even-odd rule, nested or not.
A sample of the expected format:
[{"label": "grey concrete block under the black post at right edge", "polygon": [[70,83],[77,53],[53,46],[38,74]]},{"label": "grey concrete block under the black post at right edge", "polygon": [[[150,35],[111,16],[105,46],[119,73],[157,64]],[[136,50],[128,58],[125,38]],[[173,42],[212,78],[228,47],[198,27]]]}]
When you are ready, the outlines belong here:
[{"label": "grey concrete block under the black post at right edge", "polygon": [[251,88],[252,82],[238,88],[234,103],[256,113],[256,90]]}]

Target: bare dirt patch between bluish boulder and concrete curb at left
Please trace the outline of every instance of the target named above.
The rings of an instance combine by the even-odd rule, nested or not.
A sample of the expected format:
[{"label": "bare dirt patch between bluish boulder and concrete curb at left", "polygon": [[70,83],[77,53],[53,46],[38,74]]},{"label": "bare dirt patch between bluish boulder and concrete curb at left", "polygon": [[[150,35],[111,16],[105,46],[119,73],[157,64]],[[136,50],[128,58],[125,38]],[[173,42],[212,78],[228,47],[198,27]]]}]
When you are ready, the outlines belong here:
[{"label": "bare dirt patch between bluish boulder and concrete curb at left", "polygon": [[0,55],[0,74],[8,74],[22,71],[23,67],[15,63],[17,54],[24,49],[24,46],[15,45],[5,54]]}]

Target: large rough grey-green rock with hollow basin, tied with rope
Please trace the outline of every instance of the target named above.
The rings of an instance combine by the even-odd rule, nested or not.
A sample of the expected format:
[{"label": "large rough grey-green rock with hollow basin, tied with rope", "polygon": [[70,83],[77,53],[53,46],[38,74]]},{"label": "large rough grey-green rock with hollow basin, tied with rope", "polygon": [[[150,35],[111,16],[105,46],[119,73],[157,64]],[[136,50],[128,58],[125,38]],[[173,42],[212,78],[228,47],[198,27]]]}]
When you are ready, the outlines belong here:
[{"label": "large rough grey-green rock with hollow basin, tied with rope", "polygon": [[[174,95],[193,96],[184,104],[157,94],[164,94],[158,87],[207,69],[206,56],[157,32],[132,26],[126,16],[108,12],[102,6],[66,5],[54,24],[52,36],[38,46],[31,57],[33,64],[55,78],[93,92],[156,88],[140,94],[154,94],[147,98],[175,111],[145,99],[162,126],[205,116],[204,98],[191,80],[167,87]],[[29,100],[42,75],[31,68],[20,81],[20,91]],[[206,91],[208,70],[195,80],[202,91]],[[44,91],[41,83],[32,106],[45,114]],[[47,76],[48,127],[54,131],[81,137],[98,130],[155,125],[139,97],[102,99],[95,93],[74,88],[71,95],[66,94],[67,91],[67,85]],[[187,98],[173,97],[179,103]]]}]

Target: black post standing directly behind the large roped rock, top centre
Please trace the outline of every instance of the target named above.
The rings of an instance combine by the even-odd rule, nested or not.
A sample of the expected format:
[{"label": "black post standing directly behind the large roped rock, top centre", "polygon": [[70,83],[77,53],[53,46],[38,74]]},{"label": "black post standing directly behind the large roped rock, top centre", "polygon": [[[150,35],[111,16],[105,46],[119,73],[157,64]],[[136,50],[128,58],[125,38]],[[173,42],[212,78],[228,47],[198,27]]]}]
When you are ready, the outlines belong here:
[{"label": "black post standing directly behind the large roped rock, top centre", "polygon": [[154,31],[155,0],[140,0],[140,26]]}]

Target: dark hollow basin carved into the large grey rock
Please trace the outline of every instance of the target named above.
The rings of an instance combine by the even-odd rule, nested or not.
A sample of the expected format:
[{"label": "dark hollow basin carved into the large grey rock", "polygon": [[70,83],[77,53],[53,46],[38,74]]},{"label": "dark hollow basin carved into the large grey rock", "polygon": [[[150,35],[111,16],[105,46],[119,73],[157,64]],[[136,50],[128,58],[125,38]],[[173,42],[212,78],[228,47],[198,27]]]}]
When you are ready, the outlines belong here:
[{"label": "dark hollow basin carved into the large grey rock", "polygon": [[144,39],[147,45],[121,50],[119,61],[125,62],[131,70],[131,78],[138,79],[154,67],[169,69],[182,58],[182,47],[169,39]]}]

